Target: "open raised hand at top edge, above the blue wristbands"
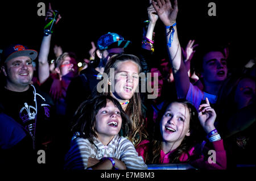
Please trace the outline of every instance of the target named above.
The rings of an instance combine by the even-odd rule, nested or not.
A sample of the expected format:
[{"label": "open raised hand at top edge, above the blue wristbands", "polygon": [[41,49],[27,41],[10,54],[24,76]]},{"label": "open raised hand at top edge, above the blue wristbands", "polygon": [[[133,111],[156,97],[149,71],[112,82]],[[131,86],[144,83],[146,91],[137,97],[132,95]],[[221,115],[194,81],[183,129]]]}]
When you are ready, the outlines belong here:
[{"label": "open raised hand at top edge, above the blue wristbands", "polygon": [[174,24],[176,22],[178,11],[177,0],[174,1],[173,7],[170,0],[156,0],[156,2],[152,1],[152,5],[164,25],[171,26]]}]

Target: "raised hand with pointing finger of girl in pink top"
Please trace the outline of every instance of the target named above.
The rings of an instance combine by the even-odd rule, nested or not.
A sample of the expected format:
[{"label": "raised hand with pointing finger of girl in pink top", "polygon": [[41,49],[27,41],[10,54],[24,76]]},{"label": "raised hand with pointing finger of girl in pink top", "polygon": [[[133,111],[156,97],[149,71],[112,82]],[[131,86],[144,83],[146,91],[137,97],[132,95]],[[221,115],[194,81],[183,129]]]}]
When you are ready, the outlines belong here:
[{"label": "raised hand with pointing finger of girl in pink top", "polygon": [[216,112],[213,110],[212,107],[210,107],[210,103],[208,98],[205,98],[206,104],[201,104],[199,106],[199,120],[200,124],[204,128],[204,131],[207,132],[207,134],[215,129],[214,127],[214,121],[216,119]]}]

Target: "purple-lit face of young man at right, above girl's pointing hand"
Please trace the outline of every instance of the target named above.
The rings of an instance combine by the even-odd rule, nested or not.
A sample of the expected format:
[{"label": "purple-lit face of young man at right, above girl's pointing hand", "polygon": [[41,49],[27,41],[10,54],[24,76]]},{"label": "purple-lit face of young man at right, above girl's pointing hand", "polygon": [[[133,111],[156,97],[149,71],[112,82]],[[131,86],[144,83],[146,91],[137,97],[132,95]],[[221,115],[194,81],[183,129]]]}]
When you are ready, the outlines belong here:
[{"label": "purple-lit face of young man at right, above girl's pointing hand", "polygon": [[205,54],[203,57],[203,73],[201,73],[204,81],[210,83],[224,81],[227,73],[226,59],[221,52]]}]

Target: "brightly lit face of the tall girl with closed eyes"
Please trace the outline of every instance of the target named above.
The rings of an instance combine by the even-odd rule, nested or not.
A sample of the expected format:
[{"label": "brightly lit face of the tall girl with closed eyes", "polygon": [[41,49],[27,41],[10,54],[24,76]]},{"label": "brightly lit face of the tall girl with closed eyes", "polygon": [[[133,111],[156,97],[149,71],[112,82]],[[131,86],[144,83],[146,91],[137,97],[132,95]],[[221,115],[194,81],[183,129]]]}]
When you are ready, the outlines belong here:
[{"label": "brightly lit face of the tall girl with closed eyes", "polygon": [[[113,82],[113,81],[112,81]],[[115,69],[114,84],[111,83],[112,94],[120,100],[129,100],[139,85],[139,65],[127,60],[118,62]]]}]

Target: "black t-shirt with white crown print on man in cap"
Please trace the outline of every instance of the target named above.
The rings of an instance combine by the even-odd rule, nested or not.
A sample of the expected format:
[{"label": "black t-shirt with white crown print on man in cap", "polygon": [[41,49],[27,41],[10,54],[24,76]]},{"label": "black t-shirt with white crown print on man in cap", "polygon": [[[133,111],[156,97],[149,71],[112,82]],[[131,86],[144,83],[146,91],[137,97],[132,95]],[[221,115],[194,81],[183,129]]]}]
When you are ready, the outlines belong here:
[{"label": "black t-shirt with white crown print on man in cap", "polygon": [[31,137],[34,150],[44,149],[42,144],[51,141],[52,99],[38,87],[30,86],[27,91],[1,90],[0,102],[3,112],[21,124]]}]

